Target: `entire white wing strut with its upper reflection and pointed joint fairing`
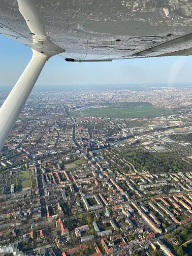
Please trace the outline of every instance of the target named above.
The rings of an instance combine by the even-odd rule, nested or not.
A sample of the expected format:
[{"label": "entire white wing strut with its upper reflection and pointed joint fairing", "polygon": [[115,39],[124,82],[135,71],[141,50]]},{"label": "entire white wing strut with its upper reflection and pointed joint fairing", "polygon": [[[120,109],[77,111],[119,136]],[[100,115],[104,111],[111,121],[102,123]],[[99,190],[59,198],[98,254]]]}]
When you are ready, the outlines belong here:
[{"label": "entire white wing strut with its upper reflection and pointed joint fairing", "polygon": [[0,151],[45,62],[53,55],[65,52],[65,49],[55,45],[47,36],[34,0],[17,0],[17,2],[18,9],[29,28],[29,34],[33,35],[33,43],[28,45],[33,51],[33,56],[0,108]]}]

